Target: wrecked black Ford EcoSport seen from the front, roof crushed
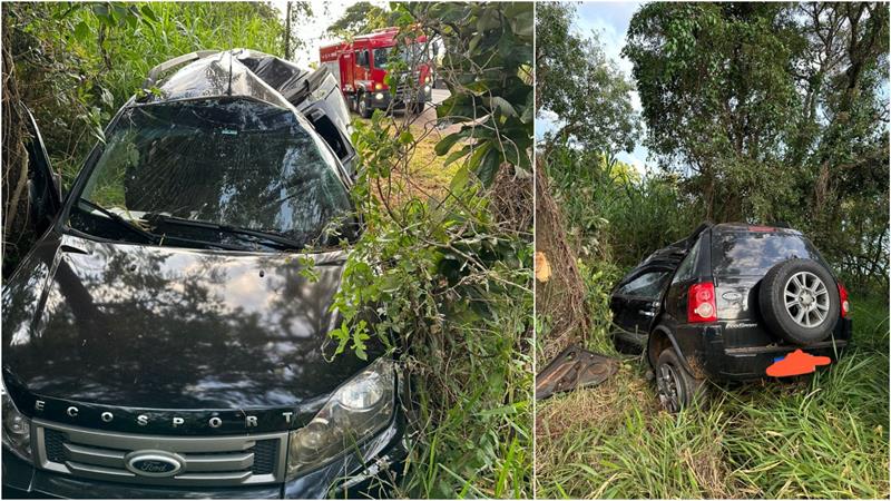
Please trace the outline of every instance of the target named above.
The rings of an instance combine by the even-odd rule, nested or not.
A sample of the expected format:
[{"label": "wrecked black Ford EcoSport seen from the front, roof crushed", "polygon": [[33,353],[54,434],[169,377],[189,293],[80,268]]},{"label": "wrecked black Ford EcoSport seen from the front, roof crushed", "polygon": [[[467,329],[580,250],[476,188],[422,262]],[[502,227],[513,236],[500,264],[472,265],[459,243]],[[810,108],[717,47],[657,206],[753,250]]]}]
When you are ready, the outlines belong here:
[{"label": "wrecked black Ford EcoSport seen from the front, roof crushed", "polygon": [[42,237],[2,288],[3,497],[375,495],[407,454],[407,383],[380,345],[329,337],[362,230],[336,80],[229,50],[145,89],[67,197],[32,124]]}]

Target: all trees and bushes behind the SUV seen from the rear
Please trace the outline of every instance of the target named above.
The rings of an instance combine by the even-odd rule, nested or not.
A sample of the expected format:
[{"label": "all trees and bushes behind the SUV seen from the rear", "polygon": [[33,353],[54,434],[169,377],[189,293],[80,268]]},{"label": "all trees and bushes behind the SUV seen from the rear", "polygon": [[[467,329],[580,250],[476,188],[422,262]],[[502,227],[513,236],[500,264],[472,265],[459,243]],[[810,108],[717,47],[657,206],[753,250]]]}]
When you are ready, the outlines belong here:
[{"label": "all trees and bushes behind the SUV seen from the rear", "polygon": [[[560,106],[548,104],[586,92],[587,78],[572,76],[590,70],[570,70],[574,48],[596,39],[571,29],[567,4],[539,11],[540,32],[572,40],[546,55],[560,69],[559,78],[539,76],[547,116]],[[644,143],[658,169],[611,174],[616,153],[629,149],[625,124],[638,117],[625,77],[606,72],[611,84],[601,87],[619,91],[604,92],[600,109],[623,110],[611,118],[619,126],[587,127],[588,138],[550,135],[541,145],[555,149],[545,160],[556,197],[572,205],[579,183],[597,185],[588,188],[596,196],[575,204],[587,215],[568,214],[570,233],[609,243],[608,259],[624,268],[697,222],[789,225],[850,287],[887,289],[887,6],[650,3],[634,16],[627,40]],[[556,116],[558,125],[571,118]]]}]

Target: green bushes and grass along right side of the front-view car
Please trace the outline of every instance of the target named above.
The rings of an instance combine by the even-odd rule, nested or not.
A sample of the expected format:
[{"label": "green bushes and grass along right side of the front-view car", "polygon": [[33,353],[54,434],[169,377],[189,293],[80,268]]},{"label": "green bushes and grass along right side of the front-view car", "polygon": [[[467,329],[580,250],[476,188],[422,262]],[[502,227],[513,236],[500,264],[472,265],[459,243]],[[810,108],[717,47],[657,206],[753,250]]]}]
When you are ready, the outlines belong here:
[{"label": "green bushes and grass along right side of the front-view car", "polygon": [[505,206],[532,204],[532,8],[393,11],[401,37],[432,32],[446,47],[438,73],[451,97],[438,120],[466,125],[435,153],[460,168],[442,196],[412,190],[414,157],[437,128],[381,111],[356,122],[353,194],[368,229],[344,271],[345,323],[332,335],[360,354],[381,340],[412,375],[417,440],[400,493],[530,497],[531,217]]}]

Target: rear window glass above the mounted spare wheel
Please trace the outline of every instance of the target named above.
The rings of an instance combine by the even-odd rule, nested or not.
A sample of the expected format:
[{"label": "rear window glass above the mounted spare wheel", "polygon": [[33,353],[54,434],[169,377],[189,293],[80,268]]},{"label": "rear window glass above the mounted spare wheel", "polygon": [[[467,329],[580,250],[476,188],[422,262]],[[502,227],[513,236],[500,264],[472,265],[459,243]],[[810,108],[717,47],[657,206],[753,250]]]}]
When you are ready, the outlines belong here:
[{"label": "rear window glass above the mounted spare wheel", "polygon": [[727,232],[712,238],[715,276],[760,276],[773,265],[793,258],[823,262],[813,245],[800,235]]}]

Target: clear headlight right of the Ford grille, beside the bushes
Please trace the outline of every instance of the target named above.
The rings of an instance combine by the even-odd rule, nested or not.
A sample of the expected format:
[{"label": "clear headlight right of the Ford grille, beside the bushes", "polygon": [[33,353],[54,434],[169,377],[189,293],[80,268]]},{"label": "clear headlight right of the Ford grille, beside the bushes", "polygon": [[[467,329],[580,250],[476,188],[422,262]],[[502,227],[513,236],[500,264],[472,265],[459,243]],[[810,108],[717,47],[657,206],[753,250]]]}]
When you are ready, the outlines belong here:
[{"label": "clear headlight right of the Ford grille, beside the bushes", "polygon": [[287,477],[322,465],[390,422],[393,361],[380,358],[339,387],[315,418],[288,436]]}]

